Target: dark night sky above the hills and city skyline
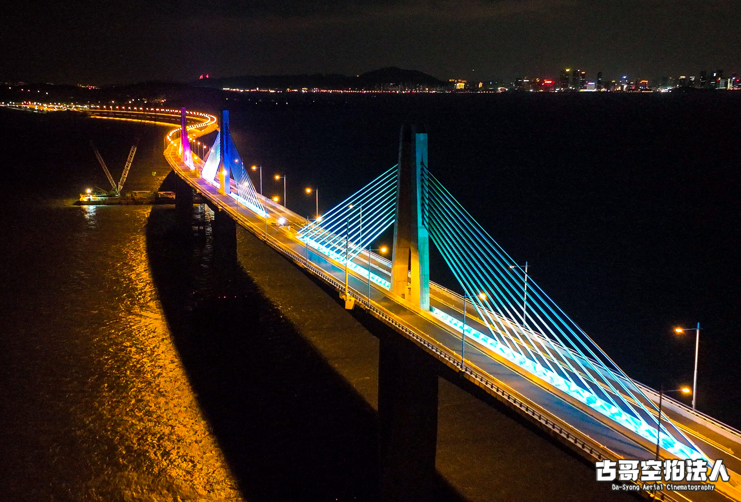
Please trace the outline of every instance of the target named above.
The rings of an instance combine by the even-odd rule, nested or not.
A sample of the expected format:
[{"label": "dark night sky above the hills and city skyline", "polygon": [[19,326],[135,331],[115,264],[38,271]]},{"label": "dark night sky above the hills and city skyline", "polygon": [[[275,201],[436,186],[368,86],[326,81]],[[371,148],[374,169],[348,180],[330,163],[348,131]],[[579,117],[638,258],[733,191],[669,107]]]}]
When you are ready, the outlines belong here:
[{"label": "dark night sky above the hills and city skyline", "polygon": [[441,79],[730,73],[734,0],[142,0],[17,2],[0,17],[0,81],[341,73],[398,66]]}]

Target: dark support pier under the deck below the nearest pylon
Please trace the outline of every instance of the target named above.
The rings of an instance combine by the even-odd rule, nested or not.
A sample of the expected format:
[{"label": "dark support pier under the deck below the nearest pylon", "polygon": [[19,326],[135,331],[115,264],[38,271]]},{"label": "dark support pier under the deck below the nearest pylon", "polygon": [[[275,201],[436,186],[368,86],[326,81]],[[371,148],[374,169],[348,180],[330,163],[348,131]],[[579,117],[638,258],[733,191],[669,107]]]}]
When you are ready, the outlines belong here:
[{"label": "dark support pier under the deck below the nearest pylon", "polygon": [[433,500],[437,385],[435,367],[425,352],[408,339],[382,339],[378,413],[385,502]]}]

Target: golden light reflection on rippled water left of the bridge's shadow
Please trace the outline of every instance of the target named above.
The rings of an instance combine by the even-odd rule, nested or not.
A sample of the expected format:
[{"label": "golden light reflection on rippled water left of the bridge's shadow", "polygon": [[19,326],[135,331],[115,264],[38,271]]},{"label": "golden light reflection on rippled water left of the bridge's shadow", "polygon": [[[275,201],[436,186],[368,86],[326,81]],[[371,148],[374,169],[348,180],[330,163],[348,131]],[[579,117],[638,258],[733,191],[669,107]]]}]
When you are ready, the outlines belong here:
[{"label": "golden light reflection on rippled water left of the bridge's shadow", "polygon": [[7,453],[38,460],[11,472],[16,500],[242,500],[170,339],[149,211],[45,206],[19,225],[37,251],[0,277],[18,298],[0,325],[15,339]]}]

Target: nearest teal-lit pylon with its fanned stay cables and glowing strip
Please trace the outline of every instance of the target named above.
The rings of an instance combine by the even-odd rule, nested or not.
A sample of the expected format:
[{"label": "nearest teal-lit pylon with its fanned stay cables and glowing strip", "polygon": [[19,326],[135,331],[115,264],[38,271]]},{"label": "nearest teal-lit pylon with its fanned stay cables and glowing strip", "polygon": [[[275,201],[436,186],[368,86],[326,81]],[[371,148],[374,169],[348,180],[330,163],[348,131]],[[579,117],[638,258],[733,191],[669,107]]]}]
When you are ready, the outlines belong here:
[{"label": "nearest teal-lit pylon with its fanned stay cables and glowing strip", "polygon": [[[488,347],[619,427],[654,444],[658,440],[679,458],[703,458],[700,448],[671,421],[662,421],[657,437],[653,401],[531,278],[525,289],[516,261],[427,166],[427,134],[410,126],[402,128],[397,166],[327,211],[321,220],[305,225],[299,240],[347,264],[356,274],[370,277],[399,301],[430,312],[461,336]],[[391,273],[381,274],[368,267],[368,260],[364,263],[357,257],[391,225]],[[430,237],[470,298],[475,315],[465,326],[455,309],[431,302]]]}]

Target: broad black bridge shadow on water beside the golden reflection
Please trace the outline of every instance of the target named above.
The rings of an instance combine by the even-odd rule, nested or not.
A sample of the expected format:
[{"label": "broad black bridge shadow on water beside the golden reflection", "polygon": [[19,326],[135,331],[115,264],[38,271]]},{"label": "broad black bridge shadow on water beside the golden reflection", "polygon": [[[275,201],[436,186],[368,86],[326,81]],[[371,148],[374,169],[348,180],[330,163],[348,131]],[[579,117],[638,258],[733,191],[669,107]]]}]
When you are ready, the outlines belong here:
[{"label": "broad black bridge shadow on water beside the golden reflection", "polygon": [[[377,416],[234,257],[208,211],[153,207],[147,255],[173,340],[247,501],[376,500]],[[322,315],[319,313],[318,315]],[[442,478],[439,500],[462,500]]]}]

